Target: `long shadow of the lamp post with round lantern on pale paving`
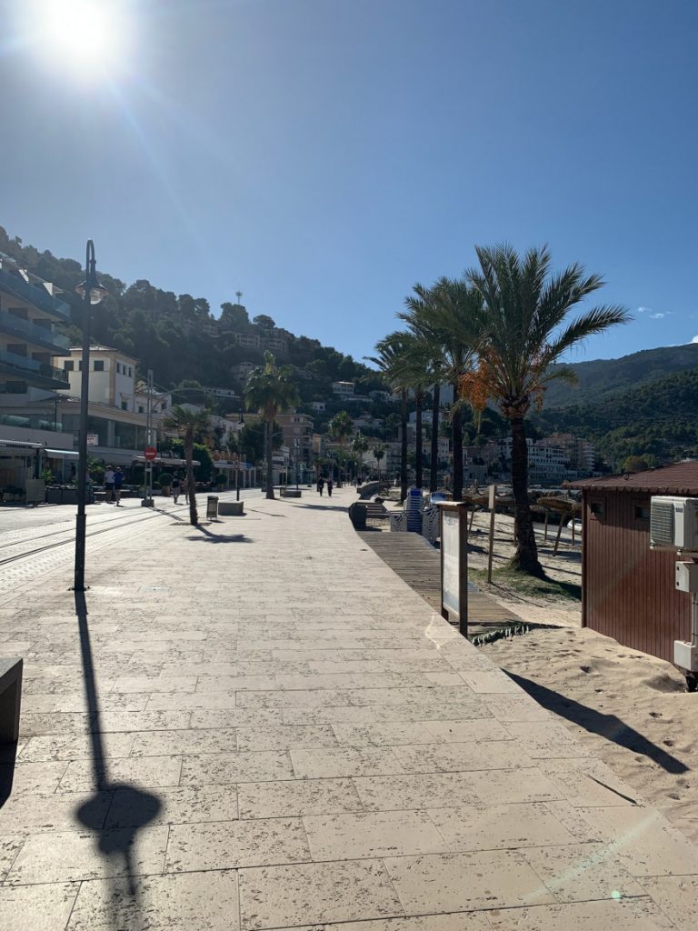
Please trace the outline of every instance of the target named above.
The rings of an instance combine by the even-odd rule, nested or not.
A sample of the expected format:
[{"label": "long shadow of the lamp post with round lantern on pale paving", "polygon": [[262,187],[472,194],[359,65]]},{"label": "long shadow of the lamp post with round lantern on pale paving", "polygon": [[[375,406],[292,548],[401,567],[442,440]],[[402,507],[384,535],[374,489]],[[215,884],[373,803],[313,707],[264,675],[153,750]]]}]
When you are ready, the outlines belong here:
[{"label": "long shadow of the lamp post with round lantern on pale paving", "polygon": [[[119,897],[123,896],[125,883],[128,884],[128,896],[134,905],[137,905],[138,890],[133,877],[133,848],[136,842],[136,836],[141,828],[144,828],[151,822],[162,807],[160,799],[145,792],[135,786],[129,786],[125,783],[110,782],[107,761],[104,759],[104,745],[102,742],[100,727],[100,699],[97,691],[97,682],[95,681],[94,663],[92,660],[92,645],[89,639],[89,626],[87,623],[87,600],[84,592],[76,591],[75,598],[75,615],[77,617],[78,630],[80,634],[80,654],[83,664],[83,677],[85,681],[85,692],[87,697],[87,711],[89,713],[92,730],[90,740],[92,742],[92,770],[94,776],[95,791],[87,802],[76,809],[75,815],[81,824],[85,825],[88,830],[96,833],[96,840],[101,854],[105,857],[123,859],[123,867],[119,872],[125,874],[126,881],[122,876],[111,877],[108,882],[111,884],[112,905],[113,905],[113,922],[112,927],[116,931],[118,927],[118,918],[116,911]],[[107,830],[104,828],[106,819],[106,810],[104,807],[104,795],[108,793],[113,797],[114,792],[118,789],[119,794],[124,797],[126,794],[129,801],[129,808],[133,814],[130,818],[130,825],[127,828],[118,828]],[[107,870],[109,876],[114,870]]]}]

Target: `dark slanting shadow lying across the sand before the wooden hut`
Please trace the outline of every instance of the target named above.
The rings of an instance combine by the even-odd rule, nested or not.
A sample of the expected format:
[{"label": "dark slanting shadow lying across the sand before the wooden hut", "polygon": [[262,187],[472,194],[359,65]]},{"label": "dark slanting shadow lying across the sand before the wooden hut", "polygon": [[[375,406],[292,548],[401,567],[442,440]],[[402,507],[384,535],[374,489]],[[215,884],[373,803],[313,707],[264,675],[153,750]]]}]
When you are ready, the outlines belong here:
[{"label": "dark slanting shadow lying across the sand before the wooden hut", "polygon": [[547,689],[544,685],[539,685],[538,682],[524,679],[513,672],[504,671],[510,679],[528,692],[539,705],[554,711],[561,718],[566,718],[568,721],[584,727],[584,730],[589,731],[590,734],[606,737],[607,740],[612,740],[619,747],[632,750],[633,753],[641,753],[652,762],[656,762],[667,773],[688,772],[689,767],[685,763],[667,753],[661,747],[657,747],[645,735],[629,727],[614,714],[603,714],[601,711],[574,701],[567,695],[560,695],[559,692]]}]

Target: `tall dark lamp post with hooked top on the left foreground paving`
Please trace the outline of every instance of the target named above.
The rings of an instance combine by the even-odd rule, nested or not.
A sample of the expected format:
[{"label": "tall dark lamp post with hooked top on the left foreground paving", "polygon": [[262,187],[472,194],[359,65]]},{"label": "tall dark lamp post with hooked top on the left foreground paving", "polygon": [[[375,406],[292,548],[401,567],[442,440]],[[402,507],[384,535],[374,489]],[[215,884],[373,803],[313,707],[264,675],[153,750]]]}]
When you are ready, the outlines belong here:
[{"label": "tall dark lamp post with hooked top on the left foreground paving", "polygon": [[77,517],[75,518],[74,591],[85,591],[85,497],[87,491],[87,396],[89,394],[89,314],[93,304],[99,304],[107,293],[95,271],[95,247],[87,240],[86,278],[75,291],[83,299],[83,355],[80,378],[80,431],[77,441]]}]

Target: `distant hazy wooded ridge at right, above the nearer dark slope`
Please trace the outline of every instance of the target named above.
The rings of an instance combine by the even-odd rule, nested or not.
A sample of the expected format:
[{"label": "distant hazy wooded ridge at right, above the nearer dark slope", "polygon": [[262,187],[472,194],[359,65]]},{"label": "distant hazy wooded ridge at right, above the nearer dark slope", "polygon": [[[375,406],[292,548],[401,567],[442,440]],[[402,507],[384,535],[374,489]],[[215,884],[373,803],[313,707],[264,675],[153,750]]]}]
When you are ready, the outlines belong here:
[{"label": "distant hazy wooded ridge at right, above the nearer dark slope", "polygon": [[574,362],[570,369],[577,376],[577,384],[553,382],[545,392],[545,407],[584,404],[696,366],[698,343],[643,349],[622,358]]}]

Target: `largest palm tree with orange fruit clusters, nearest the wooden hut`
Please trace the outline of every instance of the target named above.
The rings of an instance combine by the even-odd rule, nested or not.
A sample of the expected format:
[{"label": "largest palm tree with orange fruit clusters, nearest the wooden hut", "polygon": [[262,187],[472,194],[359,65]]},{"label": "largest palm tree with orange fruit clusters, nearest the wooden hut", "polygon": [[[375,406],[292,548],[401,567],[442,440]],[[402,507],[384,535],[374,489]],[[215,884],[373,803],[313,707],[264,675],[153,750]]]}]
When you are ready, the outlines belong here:
[{"label": "largest palm tree with orange fruit clusters, nearest the wooden hut", "polygon": [[556,365],[572,346],[630,317],[624,307],[594,307],[565,324],[570,309],[604,284],[585,275],[578,263],[552,275],[547,247],[519,256],[509,245],[477,247],[479,268],[465,273],[484,305],[484,342],[477,370],[461,379],[460,390],[474,409],[488,400],[499,404],[511,425],[514,533],[512,568],[544,574],[529,505],[529,453],[524,418],[531,404],[543,404],[546,385],[556,378],[574,380],[568,366]]}]

